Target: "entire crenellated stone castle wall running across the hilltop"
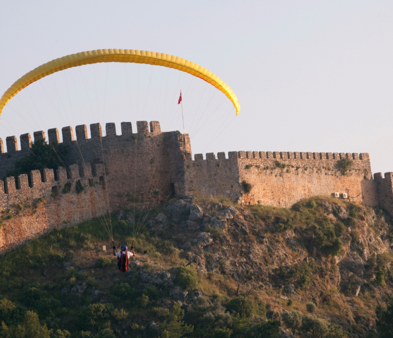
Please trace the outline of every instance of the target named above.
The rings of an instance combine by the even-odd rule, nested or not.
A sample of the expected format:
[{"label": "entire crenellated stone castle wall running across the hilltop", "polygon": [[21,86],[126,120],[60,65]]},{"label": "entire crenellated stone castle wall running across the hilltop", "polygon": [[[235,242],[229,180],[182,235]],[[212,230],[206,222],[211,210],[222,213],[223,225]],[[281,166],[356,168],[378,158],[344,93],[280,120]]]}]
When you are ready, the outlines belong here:
[{"label": "entire crenellated stone castle wall running across the hilltop", "polygon": [[[67,168],[46,169],[0,181],[0,253],[24,244],[55,227],[71,226],[118,209],[157,207],[175,195],[226,197],[239,204],[290,207],[312,196],[346,197],[358,203],[380,206],[393,215],[393,173],[371,172],[368,154],[229,152],[196,154],[192,160],[189,136],[161,132],[157,121],[106,123],[102,136],[99,123],[61,129],[69,145]],[[34,141],[46,138],[33,133]],[[75,139],[76,137],[76,139]],[[48,142],[59,142],[59,131],[48,130]],[[6,138],[7,153],[0,139],[0,175],[29,154],[30,134]],[[353,161],[342,174],[338,161]],[[251,190],[245,192],[245,184]],[[16,188],[17,187],[17,188]],[[82,187],[82,188],[81,188]]]}]

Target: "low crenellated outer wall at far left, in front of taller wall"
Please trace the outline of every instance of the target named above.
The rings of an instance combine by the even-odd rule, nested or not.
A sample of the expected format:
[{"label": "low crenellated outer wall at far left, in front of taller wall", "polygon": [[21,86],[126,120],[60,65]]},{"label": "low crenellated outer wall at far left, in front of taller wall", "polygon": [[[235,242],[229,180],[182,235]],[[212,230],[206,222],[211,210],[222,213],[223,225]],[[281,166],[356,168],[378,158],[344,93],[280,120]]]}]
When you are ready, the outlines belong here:
[{"label": "low crenellated outer wall at far left, in front of taller wall", "polygon": [[[45,169],[43,182],[40,172],[33,171],[32,187],[29,187],[26,174],[18,176],[18,189],[13,177],[7,177],[5,184],[0,181],[3,218],[0,252],[55,227],[75,225],[107,213],[105,184],[99,176],[92,175],[90,165],[82,168],[83,177],[79,177],[79,169],[77,164],[70,166],[71,178],[68,179],[65,168],[59,167],[57,180],[52,169]],[[80,193],[77,193],[77,182],[83,187]],[[64,187],[69,187],[70,192],[63,193]]]}]

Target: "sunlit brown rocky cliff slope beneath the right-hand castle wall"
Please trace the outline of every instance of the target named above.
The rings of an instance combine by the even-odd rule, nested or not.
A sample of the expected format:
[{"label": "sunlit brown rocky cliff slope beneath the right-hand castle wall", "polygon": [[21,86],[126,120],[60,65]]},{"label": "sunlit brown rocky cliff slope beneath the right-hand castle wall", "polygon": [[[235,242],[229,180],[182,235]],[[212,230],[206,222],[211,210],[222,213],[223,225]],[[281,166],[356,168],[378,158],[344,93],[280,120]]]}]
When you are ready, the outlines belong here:
[{"label": "sunlit brown rocky cliff slope beneath the right-hand castle wall", "polygon": [[228,294],[258,295],[272,307],[277,292],[276,318],[312,301],[326,321],[365,336],[393,290],[391,221],[378,208],[326,198],[291,209],[239,207],[190,197],[147,224]]}]

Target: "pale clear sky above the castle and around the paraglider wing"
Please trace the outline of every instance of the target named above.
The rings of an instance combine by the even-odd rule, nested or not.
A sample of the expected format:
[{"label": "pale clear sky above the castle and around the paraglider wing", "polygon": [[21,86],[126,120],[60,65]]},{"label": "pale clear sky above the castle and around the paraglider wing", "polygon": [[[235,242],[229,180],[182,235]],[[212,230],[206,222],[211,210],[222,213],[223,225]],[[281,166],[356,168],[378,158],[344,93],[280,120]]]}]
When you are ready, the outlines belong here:
[{"label": "pale clear sky above the castle and around the paraglider wing", "polygon": [[2,2],[0,95],[52,59],[93,49],[139,49],[189,59],[221,77],[241,113],[205,81],[135,64],[50,75],[1,115],[0,137],[65,125],[159,120],[186,132],[193,153],[370,154],[393,171],[391,1]]}]

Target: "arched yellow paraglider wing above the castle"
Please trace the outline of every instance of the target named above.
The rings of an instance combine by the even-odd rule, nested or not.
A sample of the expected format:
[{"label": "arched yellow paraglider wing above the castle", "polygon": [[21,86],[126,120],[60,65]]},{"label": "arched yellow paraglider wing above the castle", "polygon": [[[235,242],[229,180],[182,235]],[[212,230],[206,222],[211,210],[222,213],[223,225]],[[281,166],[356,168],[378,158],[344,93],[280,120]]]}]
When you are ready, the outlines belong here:
[{"label": "arched yellow paraglider wing above the castle", "polygon": [[48,62],[47,64],[41,65],[22,76],[4,93],[0,99],[0,114],[2,113],[4,106],[13,96],[34,81],[64,69],[82,65],[97,64],[99,62],[133,62],[135,64],[156,65],[181,70],[209,82],[215,88],[222,91],[232,101],[236,109],[236,115],[240,112],[239,101],[229,86],[206,68],[194,64],[191,61],[169,54],[138,51],[133,49],[98,49],[60,57]]}]

